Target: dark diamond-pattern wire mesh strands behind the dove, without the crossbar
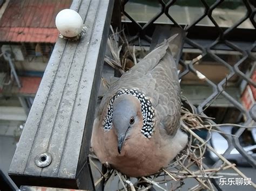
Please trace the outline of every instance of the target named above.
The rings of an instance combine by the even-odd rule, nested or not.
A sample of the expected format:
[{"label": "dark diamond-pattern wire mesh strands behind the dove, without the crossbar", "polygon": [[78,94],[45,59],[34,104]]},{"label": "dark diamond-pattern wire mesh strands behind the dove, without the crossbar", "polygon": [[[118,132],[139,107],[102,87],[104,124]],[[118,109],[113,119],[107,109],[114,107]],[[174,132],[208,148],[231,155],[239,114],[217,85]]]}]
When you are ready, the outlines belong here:
[{"label": "dark diamond-pattern wire mesh strands behind the dove, without the crossbar", "polygon": [[[238,20],[237,22],[235,22],[232,26],[230,26],[228,28],[219,26],[218,22],[212,16],[214,9],[218,8],[218,6],[220,6],[221,3],[224,2],[224,0],[217,0],[211,6],[209,6],[206,1],[200,0],[201,4],[204,7],[204,13],[199,18],[194,20],[194,22],[192,22],[191,24],[186,25],[186,26],[180,25],[176,21],[176,19],[174,19],[172,17],[172,14],[169,13],[170,12],[169,9],[172,8],[172,6],[179,1],[158,0],[157,2],[161,6],[160,11],[153,18],[151,18],[147,23],[144,23],[144,24],[137,22],[135,19],[132,18],[132,16],[129,15],[128,12],[126,12],[125,5],[128,2],[129,2],[129,0],[124,0],[122,2],[122,13],[124,16],[126,16],[128,19],[130,19],[131,25],[129,25],[129,26],[130,27],[132,26],[132,28],[134,30],[134,32],[133,32],[134,35],[130,35],[130,33],[128,32],[129,33],[128,35],[130,35],[130,38],[129,38],[130,43],[133,43],[134,41],[141,40],[141,39],[144,39],[147,42],[151,43],[152,36],[150,35],[150,32],[148,32],[148,31],[151,30],[152,26],[154,27],[154,25],[155,25],[154,22],[156,22],[156,20],[160,16],[165,15],[167,18],[169,18],[171,20],[171,22],[173,23],[172,24],[173,26],[180,27],[187,32],[187,37],[185,38],[185,43],[190,45],[191,47],[199,49],[201,51],[201,54],[199,56],[197,56],[196,58],[192,59],[192,61],[190,61],[190,63],[185,63],[185,60],[180,59],[179,64],[183,67],[183,71],[180,73],[179,77],[183,77],[190,72],[196,74],[198,72],[198,70],[194,67],[194,64],[196,62],[198,62],[199,60],[204,59],[205,56],[210,56],[213,60],[217,61],[221,65],[228,68],[228,70],[229,70],[228,75],[218,83],[214,83],[212,80],[208,79],[207,77],[205,78],[205,82],[207,83],[208,86],[210,86],[213,89],[213,91],[210,96],[208,96],[203,102],[201,102],[197,107],[195,107],[198,114],[205,115],[204,108],[208,107],[208,105],[210,105],[213,102],[213,100],[215,98],[217,98],[219,95],[222,95],[226,98],[226,100],[228,100],[233,105],[233,107],[237,108],[241,112],[241,114],[245,116],[245,121],[242,123],[242,125],[252,126],[253,123],[255,124],[255,122],[253,121],[253,118],[252,118],[253,113],[251,112],[252,115],[250,115],[250,111],[247,110],[240,102],[235,100],[234,97],[232,97],[230,94],[228,94],[227,91],[225,90],[226,82],[228,80],[230,80],[235,75],[239,76],[240,79],[245,80],[248,84],[250,84],[254,88],[256,87],[255,81],[253,81],[251,79],[251,76],[250,76],[251,74],[250,73],[245,74],[240,69],[240,66],[247,59],[250,59],[252,62],[254,61],[252,69],[255,68],[256,58],[255,58],[255,55],[253,55],[253,52],[255,52],[255,46],[256,46],[255,36],[251,37],[253,41],[251,41],[250,46],[238,46],[237,44],[234,43],[234,41],[229,40],[230,34],[232,32],[234,32],[237,29],[237,27],[247,19],[250,19],[250,22],[251,22],[252,26],[254,27],[253,31],[255,34],[255,28],[256,28],[256,23],[255,23],[256,8],[255,8],[255,4],[254,4],[255,2],[243,0],[242,2],[244,3],[244,6],[246,7],[246,10],[247,10],[245,15],[240,20]],[[189,36],[190,36],[191,31],[193,31],[193,28],[196,27],[197,24],[206,17],[208,17],[214,25],[214,27],[213,27],[214,29],[212,29],[212,30],[218,31],[218,37],[215,38],[211,44],[209,44],[207,46],[202,46],[201,44],[197,43],[197,41],[193,40],[192,38],[189,38]],[[124,26],[127,27],[127,25],[124,25]],[[203,28],[201,28],[201,29],[203,29]],[[199,31],[197,38],[200,38],[201,34],[203,34],[203,32],[200,33],[200,31]],[[244,38],[244,37],[239,36],[239,34],[237,37],[238,38],[235,39],[237,41],[242,41]],[[214,50],[218,49],[218,47],[216,47],[216,46],[220,43],[224,44],[226,47],[228,47],[229,49],[231,49],[233,51],[237,51],[237,52],[241,53],[241,55],[242,55],[241,58],[239,60],[237,60],[237,62],[233,66],[230,63],[228,63],[228,61],[221,59],[216,53],[214,53]],[[209,120],[209,121],[212,124],[215,124],[212,120]],[[221,131],[221,129],[218,127],[216,129],[218,131]],[[240,142],[239,142],[239,137],[241,136],[241,134],[244,131],[245,131],[245,128],[239,128],[238,131],[235,132],[235,134],[234,134],[235,136],[223,135],[223,137],[227,140],[227,143],[228,143],[228,148],[225,151],[225,153],[223,154],[223,156],[226,157],[228,154],[230,154],[230,152],[233,150],[233,148],[236,148],[239,151],[239,153],[249,162],[249,164],[251,164],[255,168],[256,161],[250,155],[248,155],[246,153],[246,151],[240,145]],[[221,164],[221,160],[215,162],[215,164],[213,166],[216,167],[216,166],[219,166],[220,164]]]}]

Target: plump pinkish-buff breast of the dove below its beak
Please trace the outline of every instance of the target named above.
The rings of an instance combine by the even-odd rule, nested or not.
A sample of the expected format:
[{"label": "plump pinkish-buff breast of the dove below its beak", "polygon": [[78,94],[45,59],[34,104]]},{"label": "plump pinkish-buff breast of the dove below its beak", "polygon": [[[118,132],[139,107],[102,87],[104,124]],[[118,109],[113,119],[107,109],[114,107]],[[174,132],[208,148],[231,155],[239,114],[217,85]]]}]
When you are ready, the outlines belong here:
[{"label": "plump pinkish-buff breast of the dove below its beak", "polygon": [[92,147],[99,160],[103,164],[108,162],[128,176],[154,174],[170,162],[166,146],[159,142],[158,131],[151,138],[146,138],[139,129],[133,129],[132,136],[124,142],[121,154],[118,153],[117,137],[112,129],[107,132],[99,129],[95,133],[97,136],[93,136]]}]

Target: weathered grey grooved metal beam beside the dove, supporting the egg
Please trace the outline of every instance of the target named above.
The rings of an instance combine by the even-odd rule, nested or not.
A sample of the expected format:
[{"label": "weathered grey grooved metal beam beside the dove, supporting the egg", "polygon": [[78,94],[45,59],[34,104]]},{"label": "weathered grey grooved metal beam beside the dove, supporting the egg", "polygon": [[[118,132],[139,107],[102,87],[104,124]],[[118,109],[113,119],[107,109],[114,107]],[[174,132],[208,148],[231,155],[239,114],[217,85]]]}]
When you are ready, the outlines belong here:
[{"label": "weathered grey grooved metal beam beside the dove, supporting the egg", "polygon": [[[10,166],[17,185],[93,189],[87,155],[113,1],[73,1],[71,9],[86,34],[53,49]],[[52,160],[38,167],[45,152]]]}]

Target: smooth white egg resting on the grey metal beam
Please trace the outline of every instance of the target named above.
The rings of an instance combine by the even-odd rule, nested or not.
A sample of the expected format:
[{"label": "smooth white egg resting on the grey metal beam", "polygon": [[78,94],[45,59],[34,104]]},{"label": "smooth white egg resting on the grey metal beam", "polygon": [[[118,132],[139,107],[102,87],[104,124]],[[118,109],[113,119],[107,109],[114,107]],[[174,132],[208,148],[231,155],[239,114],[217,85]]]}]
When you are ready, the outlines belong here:
[{"label": "smooth white egg resting on the grey metal beam", "polygon": [[59,11],[55,24],[60,34],[65,37],[76,37],[83,30],[83,19],[72,9]]}]

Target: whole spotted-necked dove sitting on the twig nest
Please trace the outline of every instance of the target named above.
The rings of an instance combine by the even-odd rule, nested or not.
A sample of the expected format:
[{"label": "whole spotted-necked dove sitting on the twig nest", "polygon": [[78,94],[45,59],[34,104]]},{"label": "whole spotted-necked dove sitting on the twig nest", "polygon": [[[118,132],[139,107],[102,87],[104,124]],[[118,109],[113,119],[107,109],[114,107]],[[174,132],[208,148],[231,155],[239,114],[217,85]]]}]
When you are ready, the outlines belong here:
[{"label": "whole spotted-necked dove sitting on the twig nest", "polygon": [[166,167],[187,143],[170,37],[114,82],[99,105],[91,146],[100,162],[132,177]]}]

